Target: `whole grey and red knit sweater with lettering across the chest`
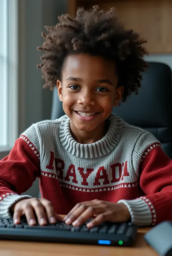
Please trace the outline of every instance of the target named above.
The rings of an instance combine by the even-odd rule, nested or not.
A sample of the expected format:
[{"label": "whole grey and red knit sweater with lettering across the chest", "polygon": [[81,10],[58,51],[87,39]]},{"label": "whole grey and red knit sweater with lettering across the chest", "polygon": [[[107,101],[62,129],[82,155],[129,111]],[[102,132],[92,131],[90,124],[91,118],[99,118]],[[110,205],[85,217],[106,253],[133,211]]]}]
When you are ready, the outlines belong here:
[{"label": "whole grey and red knit sweater with lettering across the chest", "polygon": [[23,193],[36,178],[57,214],[99,199],[123,202],[140,226],[172,220],[172,160],[151,133],[115,114],[106,135],[92,144],[75,141],[66,115],[22,133],[0,161],[0,217],[8,217],[21,198],[30,198]]}]

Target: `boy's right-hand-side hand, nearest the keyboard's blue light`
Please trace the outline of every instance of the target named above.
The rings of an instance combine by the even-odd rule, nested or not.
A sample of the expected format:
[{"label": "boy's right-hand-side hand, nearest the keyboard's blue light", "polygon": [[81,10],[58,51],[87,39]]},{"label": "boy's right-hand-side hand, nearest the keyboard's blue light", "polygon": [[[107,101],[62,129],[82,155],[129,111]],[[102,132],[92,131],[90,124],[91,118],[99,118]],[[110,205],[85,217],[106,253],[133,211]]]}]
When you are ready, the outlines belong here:
[{"label": "boy's right-hand-side hand, nearest the keyboard's blue light", "polygon": [[72,223],[74,226],[78,226],[91,217],[95,218],[87,223],[88,228],[104,221],[126,222],[131,218],[130,212],[125,204],[110,203],[95,199],[76,204],[63,220],[66,224]]}]

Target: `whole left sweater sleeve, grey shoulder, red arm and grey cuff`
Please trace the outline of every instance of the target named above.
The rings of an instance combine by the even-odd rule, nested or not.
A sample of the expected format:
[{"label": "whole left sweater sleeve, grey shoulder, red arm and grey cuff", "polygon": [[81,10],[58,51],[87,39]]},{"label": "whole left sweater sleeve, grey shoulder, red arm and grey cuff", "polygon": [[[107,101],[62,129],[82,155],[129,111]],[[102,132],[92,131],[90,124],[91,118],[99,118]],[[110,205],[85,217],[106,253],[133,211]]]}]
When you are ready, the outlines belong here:
[{"label": "whole left sweater sleeve, grey shoulder, red arm and grey cuff", "polygon": [[[32,141],[32,142],[31,142]],[[11,206],[22,198],[40,176],[38,139],[32,125],[15,142],[9,155],[0,160],[0,217],[9,217]]]}]

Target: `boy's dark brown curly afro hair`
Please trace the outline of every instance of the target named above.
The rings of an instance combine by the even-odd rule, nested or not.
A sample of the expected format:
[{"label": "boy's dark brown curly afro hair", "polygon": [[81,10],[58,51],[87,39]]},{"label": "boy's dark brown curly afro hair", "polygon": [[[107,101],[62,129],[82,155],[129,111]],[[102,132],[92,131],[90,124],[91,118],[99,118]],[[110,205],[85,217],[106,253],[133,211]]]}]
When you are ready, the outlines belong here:
[{"label": "boy's dark brown curly afro hair", "polygon": [[68,14],[58,17],[55,27],[45,27],[45,41],[38,50],[44,50],[41,64],[45,80],[44,88],[52,90],[57,79],[61,79],[62,68],[68,54],[87,53],[114,61],[118,75],[118,86],[124,86],[122,101],[135,92],[138,94],[142,72],[147,67],[143,60],[146,43],[132,29],[126,30],[119,23],[115,9],[99,10],[97,5],[90,10],[78,8],[72,18]]}]

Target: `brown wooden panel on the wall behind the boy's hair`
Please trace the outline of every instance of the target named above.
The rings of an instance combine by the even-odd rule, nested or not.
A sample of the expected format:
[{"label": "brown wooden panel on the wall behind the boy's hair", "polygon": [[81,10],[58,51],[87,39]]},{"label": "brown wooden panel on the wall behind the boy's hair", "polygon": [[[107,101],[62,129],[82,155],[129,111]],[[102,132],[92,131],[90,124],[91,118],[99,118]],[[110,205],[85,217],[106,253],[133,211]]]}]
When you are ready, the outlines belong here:
[{"label": "brown wooden panel on the wall behind the boy's hair", "polygon": [[[149,53],[172,53],[172,0],[69,0],[75,1],[72,15],[78,6],[101,9],[116,7],[119,20],[127,29],[133,29],[148,41]],[[70,12],[70,8],[69,8]]]}]

